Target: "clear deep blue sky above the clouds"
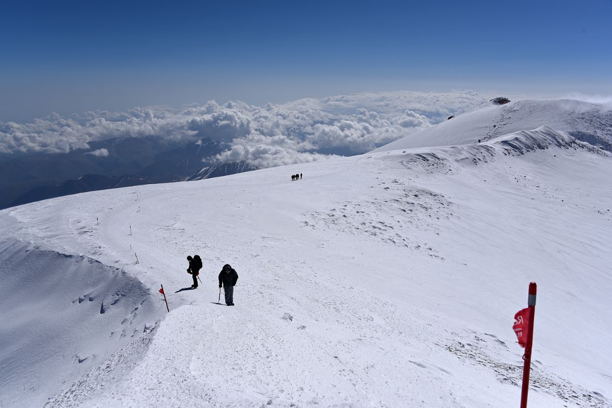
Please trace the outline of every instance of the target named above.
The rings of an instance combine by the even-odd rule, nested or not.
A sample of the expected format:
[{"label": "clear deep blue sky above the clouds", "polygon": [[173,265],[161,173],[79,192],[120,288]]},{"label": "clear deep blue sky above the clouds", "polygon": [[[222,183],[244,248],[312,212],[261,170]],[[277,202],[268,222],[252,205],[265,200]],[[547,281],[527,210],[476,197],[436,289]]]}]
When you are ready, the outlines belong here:
[{"label": "clear deep blue sky above the clouds", "polygon": [[612,1],[12,2],[0,120],[368,90],[612,93]]}]

